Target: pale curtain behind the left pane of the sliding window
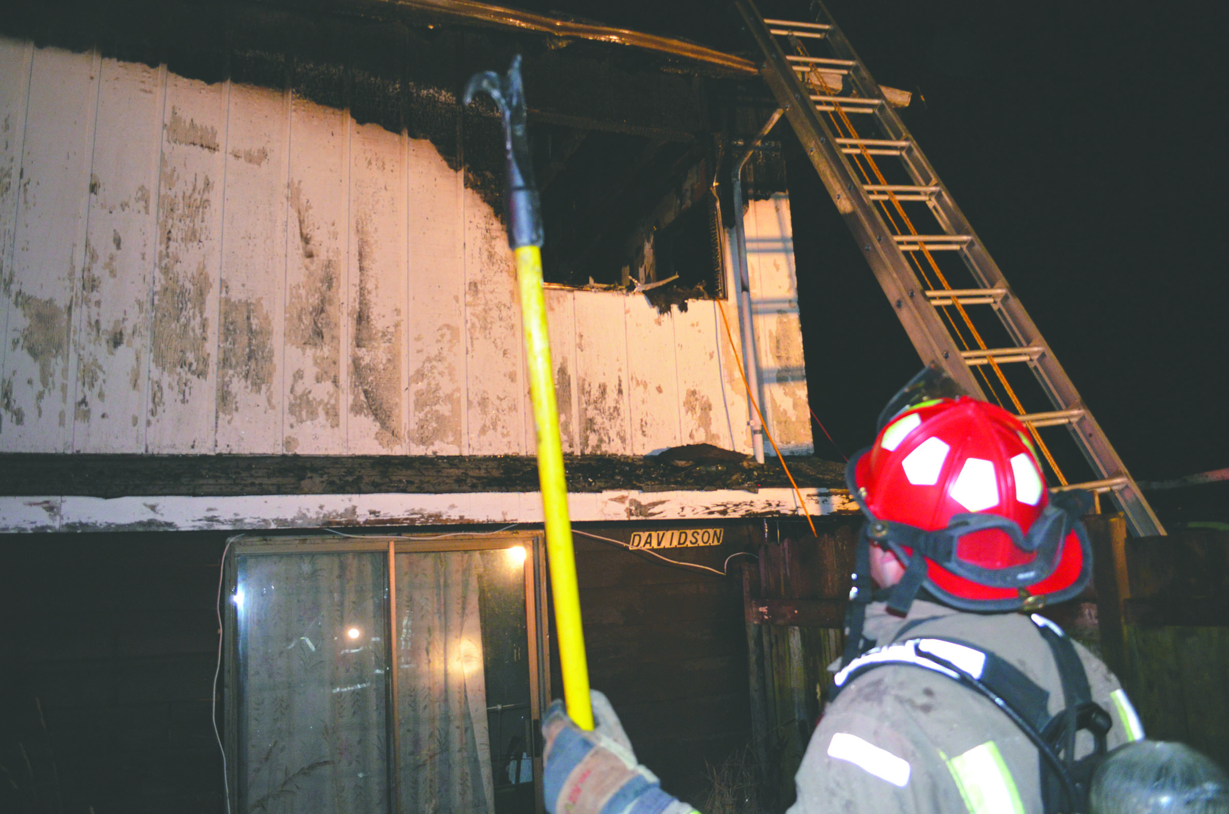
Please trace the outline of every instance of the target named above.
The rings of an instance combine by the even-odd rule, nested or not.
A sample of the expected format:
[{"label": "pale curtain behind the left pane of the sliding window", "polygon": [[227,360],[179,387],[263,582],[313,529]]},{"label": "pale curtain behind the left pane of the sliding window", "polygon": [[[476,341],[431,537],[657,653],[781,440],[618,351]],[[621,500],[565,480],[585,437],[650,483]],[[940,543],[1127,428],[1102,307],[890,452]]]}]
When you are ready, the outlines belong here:
[{"label": "pale curtain behind the left pane of the sliding window", "polygon": [[386,562],[238,558],[240,810],[388,810]]}]

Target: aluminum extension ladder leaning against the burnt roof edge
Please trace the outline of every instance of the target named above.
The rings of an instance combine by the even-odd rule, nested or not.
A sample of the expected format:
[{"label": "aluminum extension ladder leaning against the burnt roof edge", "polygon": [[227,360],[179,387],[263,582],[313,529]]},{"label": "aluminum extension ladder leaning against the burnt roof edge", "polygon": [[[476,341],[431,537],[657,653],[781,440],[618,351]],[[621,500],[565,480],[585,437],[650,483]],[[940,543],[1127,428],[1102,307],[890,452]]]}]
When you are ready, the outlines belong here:
[{"label": "aluminum extension ladder leaning against the burnt roof edge", "polygon": [[[1050,346],[827,9],[816,2],[815,22],[793,22],[764,20],[753,0],[735,0],[735,6],[763,57],[760,74],[777,97],[779,112],[798,134],[923,362],[939,365],[967,392],[983,397],[991,393],[978,381],[975,366],[982,368],[987,384],[989,379],[984,374],[992,370],[1007,386],[1003,369],[1027,365],[1053,409],[1026,412],[1013,396],[1020,419],[1031,428],[1066,425],[1099,478],[1056,488],[1109,493],[1133,534],[1165,534]],[[828,55],[811,55],[812,48],[826,50]],[[830,117],[821,113],[832,114],[831,123]],[[836,132],[837,116],[847,123],[866,122],[862,129],[878,138],[842,136]],[[865,161],[855,165],[859,156]],[[889,171],[907,183],[884,183],[885,177],[859,175],[866,162],[874,165],[885,157],[898,159],[900,165],[890,166]],[[902,170],[903,176],[898,175]],[[882,176],[879,170],[875,172]],[[892,220],[895,225],[896,218],[886,204],[881,204],[882,211],[876,208],[876,203],[885,200],[891,200],[901,215],[905,209],[898,202],[921,202],[933,215],[940,234],[918,234],[912,224],[907,232],[898,234],[902,230],[891,229],[887,223]],[[940,252],[945,261],[954,255],[964,261],[965,278],[972,280],[971,286],[950,288],[943,275],[943,286],[933,282],[927,285],[919,256],[938,272],[933,258]],[[973,314],[977,307],[989,306],[1005,330],[1008,347],[986,347],[968,321],[971,317],[966,316],[970,314],[966,306]],[[966,320],[976,343],[960,333],[951,309]],[[1013,375],[1019,374],[1013,371]]]}]

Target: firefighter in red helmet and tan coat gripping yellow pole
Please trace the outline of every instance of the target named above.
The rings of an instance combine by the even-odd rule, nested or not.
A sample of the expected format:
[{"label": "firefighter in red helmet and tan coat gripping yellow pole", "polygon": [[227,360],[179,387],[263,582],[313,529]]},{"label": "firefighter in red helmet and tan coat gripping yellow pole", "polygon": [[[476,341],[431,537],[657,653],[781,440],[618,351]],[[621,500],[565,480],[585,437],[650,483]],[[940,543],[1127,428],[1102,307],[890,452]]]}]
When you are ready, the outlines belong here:
[{"label": "firefighter in red helmet and tan coat gripping yellow pole", "polygon": [[[933,368],[884,409],[847,482],[865,515],[847,648],[790,810],[1086,810],[1106,750],[1143,738],[1110,670],[1034,612],[1091,578],[1089,496],[1051,496],[1019,421]],[[595,733],[559,706],[544,721],[548,809],[692,810],[602,701]]]}]

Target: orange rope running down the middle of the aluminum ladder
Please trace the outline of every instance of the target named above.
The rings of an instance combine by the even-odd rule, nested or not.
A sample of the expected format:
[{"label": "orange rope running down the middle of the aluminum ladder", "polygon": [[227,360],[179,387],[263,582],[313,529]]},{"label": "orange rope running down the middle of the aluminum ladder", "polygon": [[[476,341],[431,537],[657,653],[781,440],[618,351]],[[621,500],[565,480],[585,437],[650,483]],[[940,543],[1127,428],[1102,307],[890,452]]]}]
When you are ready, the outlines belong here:
[{"label": "orange rope running down the middle of the aluminum ladder", "polygon": [[[810,53],[807,52],[806,47],[803,45],[803,43],[798,39],[798,37],[795,37],[794,34],[789,34],[789,41],[790,41],[790,44],[794,47],[794,49],[798,52],[798,54],[800,57],[809,57],[810,55]],[[858,129],[854,127],[853,122],[849,121],[849,117],[846,113],[844,107],[839,102],[834,101],[834,97],[836,97],[837,93],[836,93],[836,91],[833,91],[832,89],[830,89],[830,86],[827,84],[827,80],[823,77],[822,71],[820,71],[819,69],[814,69],[812,68],[811,70],[806,71],[805,76],[806,76],[807,84],[811,85],[811,87],[814,90],[820,90],[823,96],[833,97],[833,101],[832,101],[832,108],[833,109],[828,112],[828,118],[832,122],[833,128],[838,133],[841,133],[843,130],[846,133],[847,138],[859,139],[860,136],[858,135]],[[819,87],[815,87],[815,82],[816,81],[819,81]],[[839,116],[839,118],[841,118],[839,122],[837,121],[837,116]],[[843,128],[841,127],[842,124],[844,125]],[[887,180],[884,177],[882,171],[879,168],[879,164],[875,161],[875,159],[866,150],[866,145],[865,144],[859,144],[858,145],[858,150],[859,150],[859,152],[858,152],[857,157],[862,159],[862,161],[865,161],[866,167],[869,167],[870,171],[874,172],[875,178],[879,181],[879,183],[881,186],[887,187],[889,186]],[[866,175],[866,168],[863,167],[862,161],[854,161],[854,165],[858,167],[858,171],[860,172],[860,175],[863,176],[863,178],[869,184],[870,183],[870,176]],[[913,225],[912,219],[905,211],[905,207],[901,205],[901,202],[896,197],[896,193],[891,188],[886,189],[886,192],[887,192],[887,198],[889,198],[889,200],[892,204],[892,208],[896,209],[896,214],[900,216],[901,221],[908,229],[908,234],[912,235],[912,236],[917,236],[919,232],[918,232],[917,227]],[[895,231],[896,235],[903,235],[905,232],[897,225],[896,219],[891,216],[891,213],[890,213],[890,210],[887,208],[887,202],[880,200],[879,204],[880,204],[880,208],[884,210],[886,220],[890,224],[892,231]],[[952,290],[951,289],[951,284],[948,282],[946,275],[939,268],[939,263],[934,259],[934,256],[930,253],[930,250],[927,248],[925,243],[924,242],[919,242],[918,243],[918,248],[921,250],[923,257],[925,257],[927,264],[930,266],[930,271],[934,273],[935,278],[943,285],[943,289],[948,290],[948,291]],[[907,256],[909,256],[911,266],[913,266],[913,268],[916,269],[916,272],[922,278],[923,283],[925,283],[927,285],[929,285],[930,284],[929,279],[928,279],[927,274],[924,273],[924,271],[922,269],[921,263],[914,257],[912,257],[913,252],[905,252],[905,253]],[[987,350],[988,346],[986,344],[986,341],[982,338],[981,332],[973,325],[973,321],[968,316],[968,312],[965,310],[965,306],[956,298],[952,298],[951,302],[952,302],[952,306],[955,306],[956,312],[960,314],[960,316],[961,316],[961,318],[962,318],[966,328],[968,330],[970,334],[972,336],[973,341],[977,343],[978,349]],[[952,333],[956,336],[956,338],[960,341],[960,343],[962,346],[965,346],[966,350],[971,349],[968,347],[968,343],[965,341],[965,337],[964,337],[962,332],[956,328],[955,320],[952,320],[951,316],[950,316],[950,314],[948,312],[948,306],[944,306],[943,311],[944,311],[944,315],[948,317],[948,321],[949,321],[949,323],[950,323],[950,326],[952,328]],[[1003,387],[1003,391],[1007,393],[1008,398],[1011,401],[1013,407],[1015,407],[1016,414],[1018,416],[1024,416],[1025,414],[1024,405],[1020,402],[1020,398],[1019,398],[1019,396],[1016,396],[1015,390],[1011,387],[1010,382],[1008,382],[1007,375],[1003,373],[1003,369],[999,366],[998,362],[993,357],[987,357],[986,360],[989,364],[991,369],[994,371],[994,376],[998,379],[999,385]],[[978,365],[978,366],[981,366],[981,365]],[[998,401],[999,405],[1002,406],[1002,401],[999,401],[998,393],[995,392],[994,387],[991,386],[988,376],[986,376],[986,374],[983,371],[978,371],[978,373],[981,374],[981,379],[986,382],[987,390],[989,391],[991,396],[993,396],[994,400]],[[1062,483],[1063,486],[1067,486],[1068,484],[1067,477],[1063,475],[1062,470],[1059,468],[1058,462],[1054,460],[1053,454],[1050,451],[1048,445],[1041,438],[1041,433],[1039,433],[1037,428],[1034,427],[1030,423],[1025,423],[1025,427],[1027,428],[1029,434],[1032,437],[1034,441],[1036,443],[1037,449],[1045,456],[1046,462],[1050,464],[1050,468],[1054,472],[1054,476],[1058,478],[1059,483]]]}]

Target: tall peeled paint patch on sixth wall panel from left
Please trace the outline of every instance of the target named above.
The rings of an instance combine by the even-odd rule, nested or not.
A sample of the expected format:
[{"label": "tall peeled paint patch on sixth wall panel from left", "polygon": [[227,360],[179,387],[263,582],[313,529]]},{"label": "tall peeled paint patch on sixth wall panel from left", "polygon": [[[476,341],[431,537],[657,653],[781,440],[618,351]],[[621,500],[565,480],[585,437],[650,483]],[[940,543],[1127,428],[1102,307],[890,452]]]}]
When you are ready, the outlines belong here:
[{"label": "tall peeled paint patch on sixth wall panel from left", "polygon": [[[313,382],[305,386],[306,374],[295,370],[290,379],[286,411],[291,425],[317,421],[340,427],[340,257],[337,235],[327,243],[312,218],[311,202],[302,183],[290,183],[290,208],[294,210],[302,252],[304,279],[290,286],[286,296],[286,342],[312,358]],[[311,384],[326,385],[324,396],[316,396]]]}]

